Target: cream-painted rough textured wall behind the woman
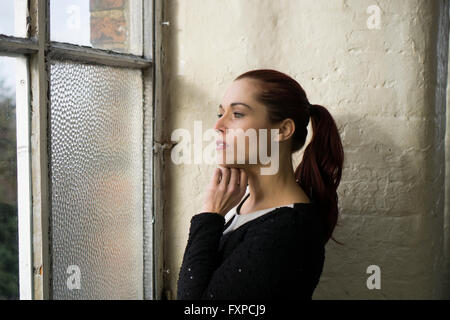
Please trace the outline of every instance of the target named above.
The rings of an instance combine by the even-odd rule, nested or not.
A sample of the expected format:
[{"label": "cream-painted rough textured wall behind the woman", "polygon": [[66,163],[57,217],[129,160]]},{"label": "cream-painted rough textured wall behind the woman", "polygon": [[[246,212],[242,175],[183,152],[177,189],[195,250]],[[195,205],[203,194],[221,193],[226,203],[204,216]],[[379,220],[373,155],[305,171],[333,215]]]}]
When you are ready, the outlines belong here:
[{"label": "cream-painted rough textured wall behind the woman", "polygon": [[[443,4],[166,3],[168,137],[176,128],[193,132],[195,120],[203,121],[203,130],[212,127],[230,82],[256,68],[293,76],[312,103],[334,115],[346,155],[335,238],[345,246],[327,245],[315,299],[443,296],[447,65],[442,61],[448,61],[448,42],[445,50],[438,46],[439,34],[441,43],[448,41],[448,26],[438,29],[445,22],[439,17],[448,18]],[[375,11],[367,12],[372,5],[380,9],[379,21]],[[168,154],[166,169],[165,267],[170,273],[165,287],[174,298],[189,222],[200,209],[214,166],[174,165]],[[381,290],[366,287],[372,264],[381,268]]]}]

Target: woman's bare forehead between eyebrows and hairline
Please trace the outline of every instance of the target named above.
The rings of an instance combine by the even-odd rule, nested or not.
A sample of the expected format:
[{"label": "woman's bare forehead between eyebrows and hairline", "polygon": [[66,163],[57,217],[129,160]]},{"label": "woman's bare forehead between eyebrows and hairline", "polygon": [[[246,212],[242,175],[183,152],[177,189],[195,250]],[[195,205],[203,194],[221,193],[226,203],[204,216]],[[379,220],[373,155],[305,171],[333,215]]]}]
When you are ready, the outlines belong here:
[{"label": "woman's bare forehead between eyebrows and hairline", "polygon": [[225,108],[231,103],[239,101],[251,106],[258,106],[254,96],[258,92],[256,81],[252,79],[240,79],[231,83],[226,90],[221,105]]}]

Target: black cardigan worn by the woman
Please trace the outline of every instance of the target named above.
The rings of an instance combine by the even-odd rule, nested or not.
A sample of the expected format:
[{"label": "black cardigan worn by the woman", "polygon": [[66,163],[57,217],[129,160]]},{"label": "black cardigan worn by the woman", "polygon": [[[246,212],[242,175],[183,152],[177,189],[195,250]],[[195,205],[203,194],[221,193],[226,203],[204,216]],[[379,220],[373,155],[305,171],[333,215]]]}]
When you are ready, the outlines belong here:
[{"label": "black cardigan worn by the woman", "polygon": [[276,208],[223,235],[217,213],[191,218],[178,300],[311,299],[322,274],[323,222],[314,202]]}]

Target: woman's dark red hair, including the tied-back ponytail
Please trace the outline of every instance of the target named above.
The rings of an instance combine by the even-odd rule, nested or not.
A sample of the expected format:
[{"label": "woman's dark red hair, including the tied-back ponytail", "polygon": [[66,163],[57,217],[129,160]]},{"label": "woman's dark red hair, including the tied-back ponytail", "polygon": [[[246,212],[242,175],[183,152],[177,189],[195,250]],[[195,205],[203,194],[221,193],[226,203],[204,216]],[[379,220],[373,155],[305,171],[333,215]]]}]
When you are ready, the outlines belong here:
[{"label": "woman's dark red hair, including the tied-back ponytail", "polygon": [[324,243],[330,238],[339,243],[332,234],[338,219],[337,188],[342,175],[344,150],[333,117],[325,107],[311,105],[300,84],[282,72],[252,70],[235,80],[243,78],[258,80],[260,92],[255,99],[266,106],[270,121],[279,122],[287,118],[294,121],[292,152],[305,144],[311,119],[312,140],[294,174],[298,184],[319,208],[325,222]]}]

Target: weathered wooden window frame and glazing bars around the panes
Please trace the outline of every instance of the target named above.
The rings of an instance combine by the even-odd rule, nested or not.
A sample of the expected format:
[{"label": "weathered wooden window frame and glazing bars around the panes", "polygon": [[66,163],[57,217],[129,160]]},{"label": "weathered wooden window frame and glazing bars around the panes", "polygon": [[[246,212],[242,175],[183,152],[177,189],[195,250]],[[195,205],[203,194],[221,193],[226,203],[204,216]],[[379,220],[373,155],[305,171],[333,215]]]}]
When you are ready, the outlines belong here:
[{"label": "weathered wooden window frame and glazing bars around the panes", "polygon": [[[163,201],[162,154],[155,141],[162,139],[160,26],[162,2],[142,0],[143,54],[118,53],[111,50],[50,41],[50,0],[21,0],[26,8],[26,36],[0,35],[0,55],[18,58],[19,75],[24,92],[17,101],[17,130],[22,136],[18,158],[19,206],[19,279],[20,299],[52,299],[51,219],[48,108],[49,70],[52,60],[142,70],[144,107],[144,299],[161,299],[163,288]],[[156,23],[155,23],[156,22]],[[27,89],[25,89],[27,88]],[[29,174],[26,174],[26,173]],[[20,179],[19,179],[20,178]],[[20,180],[20,181],[19,181]],[[28,190],[28,192],[27,192]],[[19,202],[19,201],[18,201]],[[28,209],[27,209],[28,208]]]}]

